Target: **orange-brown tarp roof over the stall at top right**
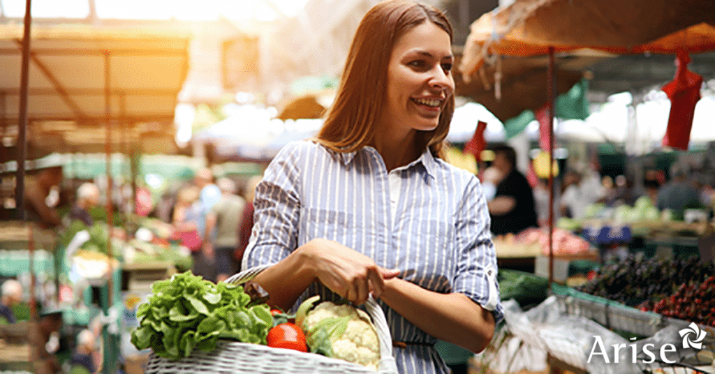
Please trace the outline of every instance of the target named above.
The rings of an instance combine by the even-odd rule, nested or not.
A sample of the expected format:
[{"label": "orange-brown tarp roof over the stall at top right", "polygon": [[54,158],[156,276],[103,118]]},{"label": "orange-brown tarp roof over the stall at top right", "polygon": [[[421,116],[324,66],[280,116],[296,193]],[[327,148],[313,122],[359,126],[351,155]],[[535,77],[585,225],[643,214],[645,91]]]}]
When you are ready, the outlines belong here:
[{"label": "orange-brown tarp roof over the stall at top right", "polygon": [[489,54],[534,56],[598,49],[615,54],[691,52],[715,47],[710,0],[516,0],[471,25],[461,71],[473,74]]}]

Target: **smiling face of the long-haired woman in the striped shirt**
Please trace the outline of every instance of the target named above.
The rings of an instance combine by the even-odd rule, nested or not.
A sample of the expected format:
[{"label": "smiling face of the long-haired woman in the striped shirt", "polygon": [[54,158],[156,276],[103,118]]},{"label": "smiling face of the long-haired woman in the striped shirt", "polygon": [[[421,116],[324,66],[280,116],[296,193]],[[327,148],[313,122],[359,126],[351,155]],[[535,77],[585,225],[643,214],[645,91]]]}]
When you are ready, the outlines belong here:
[{"label": "smiling face of the long-haired woman in the striped shirt", "polygon": [[430,21],[400,36],[390,55],[387,100],[381,119],[400,133],[430,131],[454,92],[450,36]]}]

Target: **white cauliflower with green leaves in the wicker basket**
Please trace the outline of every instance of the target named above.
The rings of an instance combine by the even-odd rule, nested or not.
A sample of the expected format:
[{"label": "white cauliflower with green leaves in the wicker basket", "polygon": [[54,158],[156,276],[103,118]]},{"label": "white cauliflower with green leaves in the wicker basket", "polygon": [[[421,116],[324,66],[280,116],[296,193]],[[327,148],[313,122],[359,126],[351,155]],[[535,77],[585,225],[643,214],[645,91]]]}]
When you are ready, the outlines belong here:
[{"label": "white cauliflower with green leaves in the wicker basket", "polygon": [[305,316],[301,315],[301,308],[296,316],[310,351],[378,370],[380,343],[368,313],[352,305],[336,305],[330,301],[321,302],[306,313],[318,298],[306,300],[301,305]]}]

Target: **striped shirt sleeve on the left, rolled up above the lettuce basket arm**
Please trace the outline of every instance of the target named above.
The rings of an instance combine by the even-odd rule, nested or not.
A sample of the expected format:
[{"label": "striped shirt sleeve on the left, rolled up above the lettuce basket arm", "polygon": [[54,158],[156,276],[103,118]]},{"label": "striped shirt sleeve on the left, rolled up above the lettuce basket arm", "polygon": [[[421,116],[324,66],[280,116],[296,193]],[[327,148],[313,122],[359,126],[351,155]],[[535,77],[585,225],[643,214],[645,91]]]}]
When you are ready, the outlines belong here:
[{"label": "striped shirt sleeve on the left, rolled up above the lettuce basket arm", "polygon": [[279,262],[295,250],[300,214],[300,147],[288,144],[268,165],[256,186],[254,224],[242,269]]}]

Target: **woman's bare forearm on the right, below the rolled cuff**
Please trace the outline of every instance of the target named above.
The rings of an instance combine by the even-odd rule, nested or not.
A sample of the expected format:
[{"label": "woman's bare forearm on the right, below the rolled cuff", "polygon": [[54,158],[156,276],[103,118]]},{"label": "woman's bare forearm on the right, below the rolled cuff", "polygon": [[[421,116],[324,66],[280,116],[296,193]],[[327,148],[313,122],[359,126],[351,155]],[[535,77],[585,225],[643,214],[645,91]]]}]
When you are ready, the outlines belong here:
[{"label": "woman's bare forearm on the right, below the rolled cuff", "polygon": [[494,333],[492,313],[460,293],[441,294],[395,278],[385,281],[380,299],[425,333],[475,353]]}]

